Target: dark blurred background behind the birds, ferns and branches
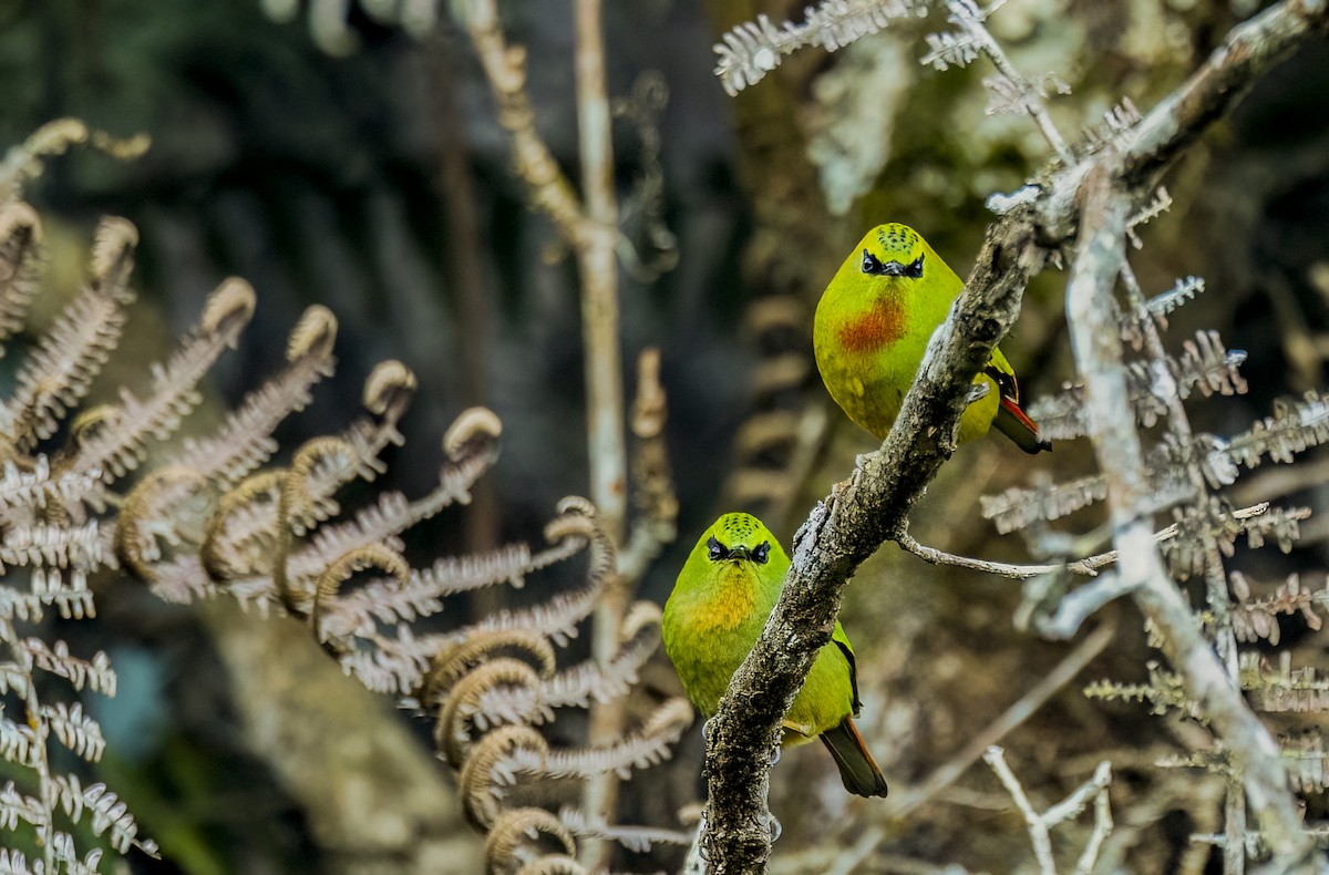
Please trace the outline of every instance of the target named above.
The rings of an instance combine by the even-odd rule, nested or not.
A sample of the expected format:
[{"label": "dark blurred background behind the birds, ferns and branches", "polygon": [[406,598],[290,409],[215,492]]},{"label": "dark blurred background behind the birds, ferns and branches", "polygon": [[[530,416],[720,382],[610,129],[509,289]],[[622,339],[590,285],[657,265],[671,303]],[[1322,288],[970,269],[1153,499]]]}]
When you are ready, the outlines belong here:
[{"label": "dark blurred background behind the birds, ferns and branches", "polygon": [[[352,3],[342,37],[354,37],[355,51],[334,40],[336,52],[311,36],[314,9],[291,12],[270,16],[259,0],[0,3],[0,144],[19,144],[61,116],[153,140],[133,162],[86,150],[53,158],[28,190],[44,217],[53,289],[77,286],[73,266],[85,262],[100,215],[124,215],[140,229],[141,301],[129,342],[97,391],[113,392],[117,379],[159,356],[206,294],[241,275],[258,291],[258,314],[210,390],[218,404],[234,403],[282,360],[302,309],[323,303],[340,322],[338,375],[319,387],[310,411],[282,427],[283,445],[340,428],[358,411],[373,363],[400,359],[420,392],[404,423],[407,443],[389,453],[392,469],[380,484],[423,492],[439,439],[465,407],[486,404],[504,422],[502,457],[474,505],[444,515],[412,549],[433,556],[538,541],[554,503],[587,489],[571,259],[526,206],[488,85],[447,8],[427,33],[408,35]],[[641,585],[641,596],[655,601],[719,512],[756,512],[788,543],[812,501],[847,476],[853,455],[874,447],[829,406],[808,342],[817,295],[863,231],[908,222],[964,275],[990,218],[986,195],[1014,190],[1049,156],[1027,120],[985,116],[979,78],[990,69],[982,61],[945,73],[917,62],[921,35],[941,28],[941,15],[835,55],[807,49],[730,98],[711,74],[711,44],[759,12],[779,21],[800,17],[801,7],[622,0],[605,9],[611,94],[639,97],[651,81],[668,90],[645,136],[629,117],[642,112],[615,122],[625,233],[645,265],[623,271],[625,362],[646,346],[662,351],[680,500],[679,541]],[[991,27],[1031,77],[1055,70],[1074,86],[1053,100],[1074,138],[1123,96],[1147,110],[1251,12],[1247,3],[1017,0]],[[529,51],[540,132],[575,182],[570,4],[521,0],[501,13],[509,40]],[[635,106],[642,110],[642,101]],[[658,162],[643,149],[657,133]],[[657,173],[663,186],[643,194],[639,181]],[[1259,84],[1189,150],[1168,189],[1175,206],[1143,229],[1147,245],[1134,265],[1150,293],[1187,274],[1207,278],[1208,290],[1176,315],[1168,342],[1176,350],[1212,327],[1229,347],[1248,350],[1249,395],[1192,406],[1197,427],[1233,434],[1268,415],[1276,396],[1324,386],[1325,45]],[[662,226],[676,246],[658,233]],[[675,259],[672,270],[651,270]],[[1061,273],[1038,278],[1003,343],[1029,396],[1073,378],[1063,287]],[[754,315],[772,307],[792,315],[773,328]],[[763,379],[772,362],[791,359],[780,379]],[[631,391],[630,368],[627,382]],[[747,424],[763,414],[813,427],[799,439],[754,436]],[[1027,559],[1018,536],[1001,537],[981,519],[978,496],[1039,473],[1062,480],[1091,471],[1080,444],[1037,459],[997,439],[964,447],[916,511],[912,532],[953,552]],[[1233,500],[1318,508],[1322,461],[1308,471],[1292,484],[1239,487],[1247,492]],[[1087,512],[1066,528],[1096,523]],[[1268,580],[1318,568],[1326,529],[1312,520],[1304,533],[1292,556],[1263,551],[1239,555],[1236,565]],[[1308,578],[1322,580],[1317,574]],[[167,862],[145,871],[342,867],[315,803],[255,745],[253,715],[235,701],[241,664],[226,642],[255,620],[218,617],[218,606],[161,605],[124,581],[108,580],[100,598],[104,622],[82,634],[112,653],[122,676],[120,695],[97,709],[112,751],[104,771],[162,844]],[[893,789],[925,778],[1065,654],[1066,644],[1013,629],[1018,601],[1018,584],[928,566],[894,547],[853,581],[844,625],[859,650],[863,726]],[[445,621],[464,622],[493,604],[459,604]],[[1140,620],[1127,605],[1108,613],[1116,638],[1080,680],[1142,680],[1151,653]],[[1304,641],[1309,661],[1322,657],[1308,629],[1289,628],[1289,636]],[[664,662],[647,673],[655,694],[675,684]],[[1155,754],[1184,743],[1191,729],[1146,710],[1090,703],[1073,684],[1005,743],[1045,805],[1087,778],[1098,759],[1114,758],[1114,805],[1130,824],[1123,831],[1138,832],[1127,846],[1131,868],[1177,871],[1187,832],[1200,828],[1196,812],[1216,803],[1176,790],[1201,778],[1154,767]],[[427,729],[404,714],[400,722],[425,750]],[[625,790],[622,818],[672,826],[675,809],[700,795],[699,761],[694,730],[674,761]],[[872,803],[844,797],[819,750],[787,757],[775,775],[773,809],[784,824],[776,855],[801,860],[787,871],[824,868],[819,848],[848,844],[874,823]],[[885,824],[888,851],[860,871],[930,871],[893,870],[888,858],[1015,871],[1029,860],[1027,842],[1018,816],[998,810],[1003,805],[991,777],[973,769],[960,789]],[[828,839],[828,818],[848,835]],[[661,850],[622,863],[674,867],[678,858]]]}]

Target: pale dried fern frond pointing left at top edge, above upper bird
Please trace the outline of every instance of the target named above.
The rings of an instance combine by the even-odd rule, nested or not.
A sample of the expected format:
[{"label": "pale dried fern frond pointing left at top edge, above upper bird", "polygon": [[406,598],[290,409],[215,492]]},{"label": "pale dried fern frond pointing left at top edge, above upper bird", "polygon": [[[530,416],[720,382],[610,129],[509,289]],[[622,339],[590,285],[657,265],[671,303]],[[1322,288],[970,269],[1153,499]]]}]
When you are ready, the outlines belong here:
[{"label": "pale dried fern frond pointing left at top edge, above upper bird", "polygon": [[804,11],[803,24],[775,25],[760,15],[730,29],[715,44],[715,74],[732,97],[762,81],[784,60],[808,45],[828,52],[876,33],[892,21],[921,17],[926,3],[918,0],[823,0]]}]

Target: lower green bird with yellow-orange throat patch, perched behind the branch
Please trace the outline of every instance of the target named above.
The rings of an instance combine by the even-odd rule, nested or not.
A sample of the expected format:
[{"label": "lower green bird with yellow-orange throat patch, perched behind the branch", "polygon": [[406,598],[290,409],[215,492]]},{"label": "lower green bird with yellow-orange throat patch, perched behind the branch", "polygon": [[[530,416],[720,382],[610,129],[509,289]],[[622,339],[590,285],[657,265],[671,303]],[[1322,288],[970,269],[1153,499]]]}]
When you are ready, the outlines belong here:
[{"label": "lower green bird with yellow-orange throat patch, perched behind the branch", "polygon": [[[710,719],[780,597],[789,557],[755,516],[727,513],[702,533],[664,602],[664,652],[683,689]],[[784,718],[784,745],[819,737],[845,790],[886,795],[886,779],[853,726],[859,713],[853,648],[836,621]]]}]

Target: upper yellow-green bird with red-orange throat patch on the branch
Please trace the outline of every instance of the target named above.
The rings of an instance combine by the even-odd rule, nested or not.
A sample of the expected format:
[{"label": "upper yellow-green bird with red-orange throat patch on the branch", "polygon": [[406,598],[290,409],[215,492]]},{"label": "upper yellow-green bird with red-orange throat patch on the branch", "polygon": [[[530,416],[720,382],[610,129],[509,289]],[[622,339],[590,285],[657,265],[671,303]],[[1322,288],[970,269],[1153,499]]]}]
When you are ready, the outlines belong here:
[{"label": "upper yellow-green bird with red-orange throat patch on the branch", "polygon": [[[965,283],[908,225],[878,225],[821,293],[812,326],[817,370],[849,419],[885,440],[928,340]],[[993,350],[974,376],[987,392],[960,420],[960,443],[997,428],[1025,452],[1051,449],[1019,407],[1015,371]]]}]

